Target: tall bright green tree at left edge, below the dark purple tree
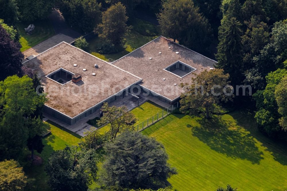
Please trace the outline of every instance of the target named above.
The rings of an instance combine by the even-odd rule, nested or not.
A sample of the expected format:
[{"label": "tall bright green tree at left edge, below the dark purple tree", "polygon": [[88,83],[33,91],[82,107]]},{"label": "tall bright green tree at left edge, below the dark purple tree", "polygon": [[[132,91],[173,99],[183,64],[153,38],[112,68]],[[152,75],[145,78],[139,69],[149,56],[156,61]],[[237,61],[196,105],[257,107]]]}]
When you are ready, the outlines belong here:
[{"label": "tall bright green tree at left edge, below the dark purple tree", "polygon": [[35,130],[29,128],[28,119],[46,98],[36,94],[31,78],[16,75],[0,82],[0,95],[0,160],[16,159]]}]

